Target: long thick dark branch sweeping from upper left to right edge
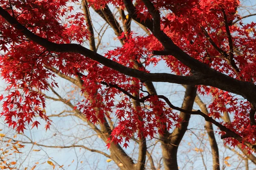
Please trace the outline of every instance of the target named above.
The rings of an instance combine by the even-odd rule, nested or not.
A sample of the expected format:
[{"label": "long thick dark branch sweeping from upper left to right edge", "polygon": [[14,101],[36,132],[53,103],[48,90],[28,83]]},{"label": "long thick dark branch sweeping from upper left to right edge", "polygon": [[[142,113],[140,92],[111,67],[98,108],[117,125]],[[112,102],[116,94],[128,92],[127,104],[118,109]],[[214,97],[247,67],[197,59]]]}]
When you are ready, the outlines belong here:
[{"label": "long thick dark branch sweeping from upper left to right edge", "polygon": [[[1,7],[0,7],[0,15],[4,17],[13,26],[15,26],[15,28],[23,32],[23,34],[25,34],[32,41],[38,43],[39,45],[44,46],[50,51],[79,53],[95,61],[98,61],[109,68],[113,68],[116,71],[121,72],[122,74],[126,74],[131,77],[136,77],[141,80],[147,80],[151,82],[172,82],[172,83],[186,84],[186,85],[210,85],[225,91],[230,91],[232,93],[244,96],[249,101],[253,102],[254,105],[256,105],[256,99],[254,97],[256,96],[256,92],[254,90],[256,87],[253,83],[241,82],[239,80],[233,79],[232,77],[224,75],[218,71],[215,71],[209,68],[207,65],[199,62],[198,60],[193,59],[188,54],[183,52],[181,49],[176,49],[174,51],[171,51],[170,55],[173,55],[176,57],[178,56],[177,59],[180,59],[181,62],[191,66],[191,68],[195,71],[198,70],[199,73],[204,72],[205,76],[183,77],[183,76],[177,76],[173,74],[145,73],[143,71],[138,71],[136,69],[125,67],[124,65],[114,62],[111,59],[107,59],[102,55],[97,54],[93,51],[90,51],[89,49],[84,48],[78,44],[57,44],[54,42],[49,42],[48,40],[33,34],[26,27],[22,26],[20,23],[17,22],[17,20],[15,20],[15,18],[13,18],[7,11],[5,11]],[[232,86],[230,86],[230,84],[232,84]]]}]

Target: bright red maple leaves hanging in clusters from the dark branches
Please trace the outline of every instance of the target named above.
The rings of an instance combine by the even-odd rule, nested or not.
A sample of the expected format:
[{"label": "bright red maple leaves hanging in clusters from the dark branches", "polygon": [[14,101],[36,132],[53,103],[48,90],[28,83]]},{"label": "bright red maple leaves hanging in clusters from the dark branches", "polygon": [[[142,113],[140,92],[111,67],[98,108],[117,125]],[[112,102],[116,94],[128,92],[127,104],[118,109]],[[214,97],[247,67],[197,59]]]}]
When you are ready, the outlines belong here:
[{"label": "bright red maple leaves hanging in clusters from the dark branches", "polygon": [[[74,11],[70,4],[77,0],[0,0],[0,6],[34,34],[55,43],[83,43],[88,39],[89,32],[84,23],[84,15]],[[91,6],[104,8],[106,4],[113,4],[124,8],[122,0],[88,0]],[[152,20],[148,8],[142,0],[136,0],[137,17],[140,21]],[[233,60],[240,69],[234,71],[232,65],[221,57],[213,47],[205,31],[219,48],[226,54],[230,53],[230,44],[227,37],[224,15],[227,21],[232,22],[239,18],[236,8],[238,0],[151,0],[155,10],[171,11],[161,15],[161,29],[173,42],[191,57],[206,63],[209,67],[236,79],[255,83],[256,76],[256,42],[254,38],[255,23],[241,26],[229,26],[232,34],[234,51]],[[11,6],[10,6],[11,3]],[[62,20],[66,19],[65,23]],[[78,72],[87,72],[82,77],[84,88],[82,93],[87,94],[84,101],[77,103],[76,108],[82,111],[86,118],[93,123],[104,122],[104,117],[114,113],[118,125],[112,132],[115,143],[124,142],[127,147],[128,138],[138,136],[153,137],[163,130],[179,126],[176,112],[158,99],[157,96],[148,96],[144,105],[134,108],[127,94],[117,88],[106,87],[101,82],[118,85],[129,94],[137,93],[143,82],[134,77],[127,77],[120,72],[106,67],[78,53],[52,52],[38,45],[23,35],[22,30],[15,28],[0,17],[0,56],[1,76],[8,84],[7,95],[3,100],[2,116],[9,126],[18,132],[26,129],[26,123],[38,127],[35,116],[40,116],[50,127],[50,120],[44,112],[45,98],[42,91],[49,86],[58,87],[54,81],[55,75],[49,68],[58,68],[66,75],[77,76]],[[122,34],[124,45],[110,50],[105,57],[129,68],[134,68],[134,61],[145,61],[145,68],[137,68],[150,72],[149,65],[157,65],[159,61],[166,62],[171,72],[177,75],[190,75],[190,68],[173,56],[158,56],[153,50],[163,50],[163,45],[153,34],[139,36],[136,32]],[[209,57],[211,59],[209,60]],[[132,83],[136,82],[136,83]],[[211,94],[214,98],[209,105],[210,115],[220,119],[225,111],[233,113],[233,122],[227,124],[230,130],[236,132],[244,140],[255,143],[256,128],[250,125],[250,104],[247,100],[239,100],[234,94],[218,88],[200,85],[198,91],[202,95]],[[140,91],[140,98],[147,93]],[[118,100],[116,100],[118,99]],[[224,107],[226,105],[226,107]],[[142,136],[143,134],[143,136]],[[236,145],[232,138],[227,143]],[[110,145],[109,145],[110,146]]]}]

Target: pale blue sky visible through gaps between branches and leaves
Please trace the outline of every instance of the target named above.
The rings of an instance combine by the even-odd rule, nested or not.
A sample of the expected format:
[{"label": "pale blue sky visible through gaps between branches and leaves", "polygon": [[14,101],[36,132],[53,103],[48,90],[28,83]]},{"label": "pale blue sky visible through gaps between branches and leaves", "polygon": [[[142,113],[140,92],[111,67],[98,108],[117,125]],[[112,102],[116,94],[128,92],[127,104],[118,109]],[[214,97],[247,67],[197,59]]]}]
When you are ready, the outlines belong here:
[{"label": "pale blue sky visible through gaps between branches and leaves", "polygon": [[[245,0],[242,5],[244,8],[241,10],[245,15],[250,12],[250,6],[255,4],[252,3],[253,0]],[[80,7],[78,6],[77,10]],[[96,30],[102,27],[104,23],[99,22],[99,16],[97,16],[93,11],[91,11],[92,20],[94,23],[94,27]],[[244,20],[244,23],[249,23],[251,21],[255,21],[256,17],[249,17]],[[134,30],[140,29],[137,27],[135,23],[132,23]],[[106,26],[105,26],[106,27]],[[142,33],[144,34],[144,33]],[[114,33],[111,28],[108,28],[102,38],[102,45],[100,45],[99,53],[104,54],[107,50],[116,48],[120,45],[120,43],[114,40]],[[86,46],[86,44],[85,44]],[[148,68],[149,69],[149,68]],[[152,72],[165,72],[170,73],[170,69],[166,68],[164,62],[160,62],[157,67],[153,67],[151,65]],[[71,95],[71,91],[74,90],[74,87],[64,79],[56,78],[58,85],[60,88],[55,89],[61,96],[67,97],[67,95]],[[175,85],[170,83],[154,83],[157,93],[164,94],[167,96],[173,105],[181,106],[184,91],[185,89],[181,85]],[[0,82],[1,93],[4,93],[4,89],[6,84],[4,81]],[[48,96],[53,95],[51,93],[47,93]],[[72,102],[79,101],[81,99],[81,94],[79,92],[75,93],[73,96],[75,99]],[[211,102],[211,98],[208,96],[202,96],[203,101],[206,104]],[[197,105],[194,105],[195,110],[199,109]],[[58,114],[64,110],[71,110],[67,106],[63,105],[61,102],[53,102],[52,100],[47,100],[47,114]],[[41,125],[38,126],[38,129],[27,129],[24,132],[24,135],[17,135],[18,140],[29,141],[31,139],[33,142],[37,142],[39,144],[45,144],[48,146],[69,146],[74,143],[82,144],[89,148],[102,150],[105,153],[109,153],[107,148],[105,147],[105,143],[99,138],[98,135],[95,135],[94,131],[87,126],[86,122],[82,122],[73,116],[66,117],[51,117],[53,123],[51,126],[51,130],[47,132],[44,129],[45,123],[40,121]],[[39,119],[38,119],[39,120]],[[204,164],[207,166],[207,169],[211,169],[212,167],[212,156],[211,150],[209,148],[208,136],[204,130],[204,119],[201,116],[192,115],[189,130],[186,132],[179,150],[178,150],[178,164],[179,167],[183,170],[202,170],[204,169]],[[215,128],[215,127],[214,127]],[[0,129],[2,129],[1,133],[7,134],[8,136],[13,136],[16,132],[6,125],[4,125],[3,118],[0,119]],[[215,130],[217,130],[215,128]],[[26,137],[27,136],[27,137]],[[224,158],[230,156],[231,158],[228,161],[229,164],[232,164],[231,167],[225,167],[225,170],[243,170],[244,161],[241,160],[239,156],[230,151],[229,149],[223,147],[223,142],[218,135],[215,135],[217,142],[219,143],[219,154],[221,167],[224,167]],[[160,142],[157,142],[156,139],[148,140],[147,145],[149,150],[153,150],[152,156],[155,160],[159,161],[161,157],[160,150]],[[131,142],[129,147],[125,150],[129,155],[134,156],[134,159],[137,157],[136,148],[138,146],[135,142]],[[135,149],[134,149],[135,148]],[[203,152],[200,151],[203,150]],[[40,151],[33,151],[40,150]],[[134,151],[135,150],[135,151]],[[24,170],[25,167],[33,167],[36,162],[37,164],[36,170],[49,170],[52,169],[52,166],[44,163],[47,160],[52,161],[56,168],[64,165],[62,168],[64,170],[106,170],[106,169],[114,169],[116,165],[113,161],[107,162],[105,156],[102,156],[98,153],[92,153],[83,148],[67,148],[67,149],[59,149],[59,148],[49,148],[49,147],[40,147],[37,145],[26,144],[26,147],[20,149],[23,154],[17,154],[16,159],[20,161],[21,166],[18,168],[19,170]],[[19,155],[21,156],[19,158]],[[23,162],[24,161],[24,162]],[[22,163],[23,162],[23,163]],[[250,163],[250,162],[249,162]],[[58,166],[59,165],[59,166]],[[157,162],[155,162],[157,167]],[[235,167],[235,168],[234,168]],[[237,168],[236,168],[237,167]],[[251,169],[256,169],[254,164],[250,163]],[[30,169],[29,168],[29,169]],[[56,169],[55,168],[55,169]],[[161,168],[163,169],[163,167]]]}]

